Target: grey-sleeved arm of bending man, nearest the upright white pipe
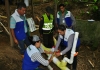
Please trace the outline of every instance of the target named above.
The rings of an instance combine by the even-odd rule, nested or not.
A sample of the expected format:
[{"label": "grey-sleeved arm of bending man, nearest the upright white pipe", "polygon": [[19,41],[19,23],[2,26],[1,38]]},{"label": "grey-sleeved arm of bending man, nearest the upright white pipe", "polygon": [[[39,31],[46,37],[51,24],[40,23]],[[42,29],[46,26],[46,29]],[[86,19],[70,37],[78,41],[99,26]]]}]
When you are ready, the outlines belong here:
[{"label": "grey-sleeved arm of bending man, nearest the upright white pipe", "polygon": [[62,55],[64,55],[69,50],[71,50],[71,48],[73,46],[73,41],[74,41],[74,34],[69,36],[67,48],[60,52]]}]

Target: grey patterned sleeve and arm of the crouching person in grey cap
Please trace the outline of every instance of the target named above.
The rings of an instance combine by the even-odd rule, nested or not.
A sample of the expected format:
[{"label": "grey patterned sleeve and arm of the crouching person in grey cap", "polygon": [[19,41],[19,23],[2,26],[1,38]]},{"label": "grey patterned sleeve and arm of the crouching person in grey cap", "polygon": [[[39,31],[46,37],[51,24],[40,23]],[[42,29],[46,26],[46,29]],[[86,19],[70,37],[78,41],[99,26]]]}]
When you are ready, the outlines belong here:
[{"label": "grey patterned sleeve and arm of the crouching person in grey cap", "polygon": [[38,61],[39,63],[41,63],[42,65],[44,66],[48,66],[49,65],[49,60],[45,60],[40,53],[34,53],[32,56],[31,56],[31,60],[32,61]]}]

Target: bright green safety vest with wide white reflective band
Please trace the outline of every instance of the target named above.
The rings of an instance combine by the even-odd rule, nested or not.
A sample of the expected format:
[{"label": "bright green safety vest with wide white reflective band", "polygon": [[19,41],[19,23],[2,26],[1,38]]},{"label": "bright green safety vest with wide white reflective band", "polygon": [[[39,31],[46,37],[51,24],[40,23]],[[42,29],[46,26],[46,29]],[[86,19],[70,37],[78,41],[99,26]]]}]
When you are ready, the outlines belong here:
[{"label": "bright green safety vest with wide white reflective band", "polygon": [[43,18],[44,18],[44,25],[42,29],[51,30],[53,28],[53,15],[50,14],[50,20],[48,19],[48,16],[46,14],[43,15]]}]

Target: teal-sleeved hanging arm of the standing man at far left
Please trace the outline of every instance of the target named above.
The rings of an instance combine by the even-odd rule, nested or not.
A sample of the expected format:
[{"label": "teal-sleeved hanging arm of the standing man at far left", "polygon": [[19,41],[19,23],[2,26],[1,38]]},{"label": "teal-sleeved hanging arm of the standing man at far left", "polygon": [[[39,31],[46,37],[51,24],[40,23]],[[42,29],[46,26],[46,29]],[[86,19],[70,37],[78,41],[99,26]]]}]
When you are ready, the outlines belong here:
[{"label": "teal-sleeved hanging arm of the standing man at far left", "polygon": [[14,28],[15,28],[15,26],[16,26],[16,21],[15,21],[15,19],[14,19],[13,17],[11,17],[11,18],[10,18],[10,31],[11,31],[11,35],[12,35],[12,37],[13,37],[14,42],[15,42],[16,44],[18,44],[18,41],[17,41],[17,39],[16,39],[16,37],[15,37],[15,33],[14,33]]}]

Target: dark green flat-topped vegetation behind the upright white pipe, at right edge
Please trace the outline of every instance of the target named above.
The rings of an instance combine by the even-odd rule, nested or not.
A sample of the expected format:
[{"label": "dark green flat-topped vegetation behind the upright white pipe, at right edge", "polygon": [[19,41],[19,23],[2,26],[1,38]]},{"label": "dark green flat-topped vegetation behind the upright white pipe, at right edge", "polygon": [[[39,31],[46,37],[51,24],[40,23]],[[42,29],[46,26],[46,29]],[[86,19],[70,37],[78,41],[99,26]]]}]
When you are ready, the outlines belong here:
[{"label": "dark green flat-topped vegetation behind the upright white pipe, at right edge", "polygon": [[77,20],[76,31],[80,33],[81,44],[96,50],[100,43],[100,22]]}]

